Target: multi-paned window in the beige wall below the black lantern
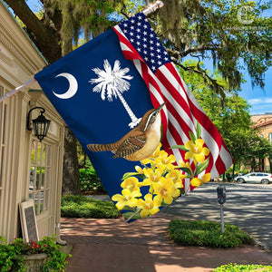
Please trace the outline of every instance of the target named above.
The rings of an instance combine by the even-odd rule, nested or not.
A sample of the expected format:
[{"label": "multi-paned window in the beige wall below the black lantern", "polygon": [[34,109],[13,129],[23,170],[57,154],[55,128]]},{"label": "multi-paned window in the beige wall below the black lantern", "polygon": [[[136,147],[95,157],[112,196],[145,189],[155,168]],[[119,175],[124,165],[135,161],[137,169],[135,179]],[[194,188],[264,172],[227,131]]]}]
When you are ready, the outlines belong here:
[{"label": "multi-paned window in the beige wall below the black lantern", "polygon": [[34,200],[36,215],[49,209],[51,170],[52,146],[44,141],[33,140],[31,144],[29,199]]}]

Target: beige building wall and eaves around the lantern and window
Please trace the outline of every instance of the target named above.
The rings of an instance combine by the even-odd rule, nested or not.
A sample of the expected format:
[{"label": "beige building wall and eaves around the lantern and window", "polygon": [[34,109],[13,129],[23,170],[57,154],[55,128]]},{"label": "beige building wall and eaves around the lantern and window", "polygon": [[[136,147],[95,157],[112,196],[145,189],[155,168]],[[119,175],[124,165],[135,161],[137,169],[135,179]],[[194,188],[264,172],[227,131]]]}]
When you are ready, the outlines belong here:
[{"label": "beige building wall and eaves around the lantern and window", "polygon": [[[34,77],[46,62],[0,0],[0,96]],[[35,83],[0,102],[0,236],[12,242],[21,235],[18,206],[28,199],[31,141],[25,129],[26,114],[35,106],[52,121],[46,141],[53,145],[52,205],[37,216],[40,237],[58,233],[63,170],[64,123]],[[33,116],[39,112],[34,111]],[[5,129],[5,131],[4,131]]]}]

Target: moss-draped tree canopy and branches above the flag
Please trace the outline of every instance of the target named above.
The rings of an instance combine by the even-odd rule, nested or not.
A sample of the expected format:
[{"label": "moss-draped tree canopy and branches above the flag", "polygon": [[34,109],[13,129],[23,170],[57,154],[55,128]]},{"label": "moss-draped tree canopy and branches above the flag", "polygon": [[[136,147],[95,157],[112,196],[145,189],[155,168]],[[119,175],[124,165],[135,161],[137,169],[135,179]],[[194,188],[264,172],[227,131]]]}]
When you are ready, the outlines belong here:
[{"label": "moss-draped tree canopy and branches above the flag", "polygon": [[[121,18],[142,10],[148,1],[41,2],[44,15],[40,19],[29,9],[27,1],[5,0],[24,22],[44,57],[53,63],[62,54],[73,50],[73,44],[77,44],[80,34],[83,33],[88,41],[117,24]],[[272,18],[263,17],[262,13],[271,5],[271,0],[264,3],[246,0],[168,0],[149,19],[173,61],[184,70],[202,75],[213,92],[224,97],[224,86],[200,69],[199,62],[185,67],[184,58],[189,56],[199,61],[211,59],[214,68],[228,82],[229,90],[240,87],[241,74],[246,71],[252,84],[263,88],[264,73],[272,64]]]}]

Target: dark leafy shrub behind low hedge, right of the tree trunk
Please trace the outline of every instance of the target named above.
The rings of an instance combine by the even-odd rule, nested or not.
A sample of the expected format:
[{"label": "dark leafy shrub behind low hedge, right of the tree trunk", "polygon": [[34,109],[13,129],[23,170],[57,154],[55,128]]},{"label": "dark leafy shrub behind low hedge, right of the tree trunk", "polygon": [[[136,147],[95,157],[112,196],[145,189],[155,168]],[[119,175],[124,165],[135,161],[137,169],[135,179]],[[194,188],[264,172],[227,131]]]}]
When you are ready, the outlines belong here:
[{"label": "dark leafy shrub behind low hedge, right of the tree trunk", "polygon": [[106,190],[102,186],[102,182],[99,180],[95,170],[92,168],[80,169],[79,177],[81,183],[82,192],[96,192],[105,193]]}]

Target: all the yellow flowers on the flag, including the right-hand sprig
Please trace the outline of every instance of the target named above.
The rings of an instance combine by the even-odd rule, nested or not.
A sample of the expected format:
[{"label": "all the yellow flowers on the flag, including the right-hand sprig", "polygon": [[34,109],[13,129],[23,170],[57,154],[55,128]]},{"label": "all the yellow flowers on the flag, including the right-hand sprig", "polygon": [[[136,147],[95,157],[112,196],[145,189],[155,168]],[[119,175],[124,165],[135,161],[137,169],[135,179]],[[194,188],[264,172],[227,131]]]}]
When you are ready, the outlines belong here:
[{"label": "all the yellow flowers on the flag, including the right-hand sprig", "polygon": [[[160,150],[160,144],[151,158],[141,160],[143,168],[136,166],[136,172],[124,174],[121,194],[113,195],[112,200],[117,202],[118,209],[129,211],[123,214],[127,220],[135,219],[138,213],[141,218],[151,216],[158,212],[160,207],[172,203],[180,196],[182,180],[185,178],[195,187],[210,180],[210,173],[203,175],[203,171],[209,166],[209,149],[203,147],[205,142],[200,139],[200,135],[198,123],[197,136],[189,131],[190,141],[185,145],[172,147],[186,151],[184,159],[188,161],[179,160],[179,166],[173,164],[176,161],[174,155]],[[185,175],[182,175],[180,170]]]}]

